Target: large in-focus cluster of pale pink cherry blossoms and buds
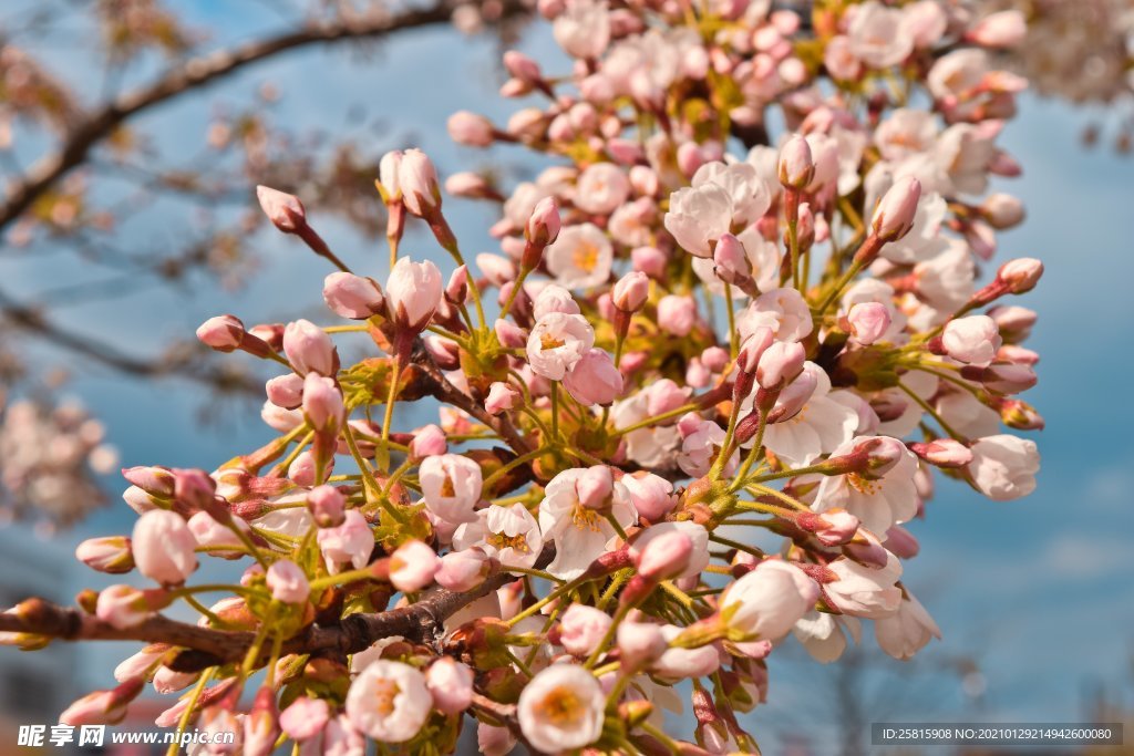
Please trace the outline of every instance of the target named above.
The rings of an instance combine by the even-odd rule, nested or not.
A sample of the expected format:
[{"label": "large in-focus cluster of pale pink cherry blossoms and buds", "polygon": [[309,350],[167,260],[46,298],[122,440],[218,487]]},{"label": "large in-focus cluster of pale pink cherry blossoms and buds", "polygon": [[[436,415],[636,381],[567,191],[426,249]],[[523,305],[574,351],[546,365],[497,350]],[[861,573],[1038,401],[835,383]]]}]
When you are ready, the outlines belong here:
[{"label": "large in-focus cluster of pale pink cherry blossoms and buds", "polygon": [[[988,51],[1023,19],[770,5],[542,0],[570,69],[508,52],[502,93],[541,104],[449,121],[553,162],[508,193],[448,178],[501,205],[500,254],[472,265],[421,151],[380,165],[381,283],[261,187],[277,228],[339,269],[322,294],[348,322],[201,326],[280,365],[262,413],[280,435],[212,473],[125,472],[133,535],[79,558],[156,587],[81,604],[102,637],[153,645],[65,721],[120,716],[152,680],[191,689],[159,724],[238,729],[245,754],[281,736],[446,753],[466,713],[486,754],[754,753],[738,715],[788,636],[822,662],[864,625],[898,659],[939,636],[902,581],[934,469],[1004,501],[1039,466],[1006,428],[1043,424],[1016,398],[1035,314],[1009,304],[1042,265],[978,282],[1023,219],[987,194],[1019,172],[996,139],[1025,85]],[[400,249],[414,219],[448,278]],[[376,350],[344,365],[338,339]],[[437,422],[398,430],[395,406],[425,398]],[[246,562],[239,581],[194,586],[201,553]],[[174,602],[201,612],[176,639],[155,618]],[[696,745],[663,727],[683,680]]]}]

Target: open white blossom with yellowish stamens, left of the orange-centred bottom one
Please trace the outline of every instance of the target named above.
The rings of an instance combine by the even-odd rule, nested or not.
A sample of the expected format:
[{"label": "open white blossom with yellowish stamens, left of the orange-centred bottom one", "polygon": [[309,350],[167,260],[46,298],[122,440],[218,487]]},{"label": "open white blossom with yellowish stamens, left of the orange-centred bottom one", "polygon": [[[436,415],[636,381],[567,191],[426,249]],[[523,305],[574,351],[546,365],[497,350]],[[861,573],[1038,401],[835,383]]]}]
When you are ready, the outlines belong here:
[{"label": "open white blossom with yellowish stamens, left of the orange-centred bottom one", "polygon": [[366,665],[347,694],[347,716],[379,742],[405,742],[433,708],[425,676],[408,664],[379,660]]}]

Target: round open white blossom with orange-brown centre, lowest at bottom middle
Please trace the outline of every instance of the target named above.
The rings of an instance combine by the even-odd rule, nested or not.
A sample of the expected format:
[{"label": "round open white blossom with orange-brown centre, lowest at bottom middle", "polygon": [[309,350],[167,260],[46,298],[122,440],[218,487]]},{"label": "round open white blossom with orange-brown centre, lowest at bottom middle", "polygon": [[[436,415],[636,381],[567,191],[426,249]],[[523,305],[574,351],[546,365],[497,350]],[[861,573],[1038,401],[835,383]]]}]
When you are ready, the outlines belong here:
[{"label": "round open white blossom with orange-brown centre, lowest at bottom middle", "polygon": [[598,740],[606,707],[607,697],[591,672],[552,664],[524,687],[516,715],[532,746],[559,754]]}]

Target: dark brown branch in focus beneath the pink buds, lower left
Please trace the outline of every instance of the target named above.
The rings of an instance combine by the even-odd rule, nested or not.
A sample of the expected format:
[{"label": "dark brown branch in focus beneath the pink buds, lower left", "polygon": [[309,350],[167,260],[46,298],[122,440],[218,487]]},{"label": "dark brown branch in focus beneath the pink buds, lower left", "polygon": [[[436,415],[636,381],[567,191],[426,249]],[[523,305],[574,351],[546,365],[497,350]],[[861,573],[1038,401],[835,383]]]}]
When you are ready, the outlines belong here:
[{"label": "dark brown branch in focus beneath the pink buds, lower left", "polygon": [[[547,564],[555,557],[553,547],[545,547],[538,564]],[[440,637],[445,621],[477,598],[497,591],[515,577],[498,572],[479,587],[456,593],[435,588],[409,606],[370,614],[350,614],[338,626],[306,627],[299,635],[285,640],[285,654],[356,654],[375,642],[401,636],[414,643],[433,645]],[[29,598],[16,611],[0,613],[0,632],[26,632],[58,640],[139,640],[163,643],[187,651],[170,662],[180,672],[193,672],[219,664],[239,662],[248,653],[255,638],[253,632],[217,630],[187,622],[179,622],[155,614],[129,628],[116,628],[78,609],[52,604],[42,598]],[[264,663],[266,660],[261,660]]]}]

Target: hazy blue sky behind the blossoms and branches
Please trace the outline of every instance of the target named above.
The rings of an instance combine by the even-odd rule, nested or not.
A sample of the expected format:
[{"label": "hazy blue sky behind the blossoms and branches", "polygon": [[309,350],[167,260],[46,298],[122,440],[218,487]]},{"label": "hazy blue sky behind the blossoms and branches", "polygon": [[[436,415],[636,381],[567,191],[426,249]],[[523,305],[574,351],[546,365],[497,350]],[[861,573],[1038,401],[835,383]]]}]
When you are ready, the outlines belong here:
[{"label": "hazy blue sky behind the blossoms and branches", "polygon": [[[212,23],[221,7],[228,15],[218,42],[276,23],[270,11],[253,3],[197,3],[191,10]],[[552,54],[545,29],[528,35],[522,46],[544,60]],[[412,134],[414,144],[448,173],[489,160],[449,142],[443,128],[449,113],[469,109],[502,121],[516,108],[496,94],[496,54],[489,40],[459,41],[452,32],[428,31],[386,44],[362,61],[341,50],[294,54],[246,71],[210,94],[238,102],[260,83],[273,80],[284,94],[280,112],[305,128],[338,128],[353,105],[364,104],[390,126],[390,135]],[[208,103],[204,97],[186,100],[146,116],[143,125],[160,130],[164,147],[184,143],[192,152],[201,139]],[[1083,685],[1123,682],[1134,651],[1127,629],[1134,621],[1134,549],[1128,536],[1134,526],[1134,410],[1124,394],[1134,369],[1134,338],[1127,325],[1134,323],[1128,240],[1134,162],[1080,145],[1078,131],[1090,113],[1026,96],[1021,111],[1001,144],[1025,175],[999,181],[998,188],[1021,196],[1030,215],[1021,229],[1001,237],[998,260],[1027,255],[1047,265],[1039,289],[1021,301],[1040,312],[1029,343],[1043,357],[1040,384],[1026,396],[1048,423],[1038,438],[1043,453],[1040,485],[1029,499],[1007,503],[989,502],[958,485],[939,486],[926,521],[913,527],[922,553],[907,563],[906,583],[923,596],[945,639],[930,648],[926,663],[895,663],[880,673],[905,680],[894,683],[899,687],[916,685],[911,680],[917,674],[936,680],[934,714],[943,719],[967,715],[972,705],[956,694],[949,676],[934,669],[943,660],[978,660],[987,680],[981,715],[1052,722],[1080,716]],[[401,143],[396,136],[378,137],[373,151],[380,154]],[[500,153],[506,159],[519,154]],[[490,212],[471,203],[452,203],[452,209],[466,250],[491,249],[485,233],[494,220]],[[143,220],[137,238],[163,243],[176,221],[170,212],[176,211]],[[380,248],[367,248],[333,222],[318,224],[356,270],[384,278]],[[128,296],[84,308],[71,322],[81,331],[141,350],[189,333],[218,312],[234,312],[247,322],[294,317],[297,307],[318,316],[325,273],[321,262],[293,239],[264,235],[256,244],[265,265],[246,291]],[[424,237],[412,238],[405,249],[442,263],[443,253]],[[16,275],[34,291],[49,275],[58,284],[60,273],[28,264]],[[210,468],[269,438],[254,408],[229,408],[219,425],[202,427],[197,414],[210,398],[200,391],[176,383],[143,385],[102,368],[76,365],[75,372],[75,393],[107,421],[125,465]],[[129,521],[128,510],[116,501],[111,510],[60,540],[74,543],[124,530]],[[873,643],[869,637],[866,642]],[[787,656],[773,665],[775,703],[756,714],[758,732],[759,727],[775,730],[786,712],[809,700],[815,686],[833,674],[801,654]],[[107,679],[102,663],[91,665],[88,679]],[[903,712],[906,719],[917,714]]]}]

